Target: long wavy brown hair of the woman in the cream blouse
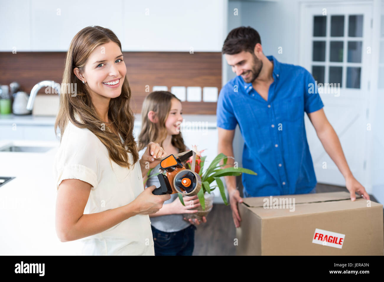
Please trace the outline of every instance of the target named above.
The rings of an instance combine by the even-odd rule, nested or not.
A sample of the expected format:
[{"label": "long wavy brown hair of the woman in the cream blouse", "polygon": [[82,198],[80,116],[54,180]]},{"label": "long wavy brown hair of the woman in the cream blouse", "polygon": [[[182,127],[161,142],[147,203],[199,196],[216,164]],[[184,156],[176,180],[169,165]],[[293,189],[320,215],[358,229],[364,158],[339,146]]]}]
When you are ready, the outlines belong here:
[{"label": "long wavy brown hair of the woman in the cream blouse", "polygon": [[[58,127],[61,142],[69,121],[79,128],[87,128],[107,147],[111,160],[121,167],[130,168],[139,159],[139,154],[133,137],[134,115],[129,108],[131,89],[127,77],[124,78],[120,96],[109,101],[108,109],[108,124],[112,124],[121,135],[124,140],[123,145],[120,138],[108,127],[108,124],[105,125],[104,130],[103,124],[105,123],[98,116],[86,85],[73,73],[73,69],[76,67],[79,68],[80,72],[83,72],[86,61],[93,50],[111,41],[119,45],[121,50],[121,43],[113,31],[101,26],[87,26],[72,39],[65,58],[65,69],[60,89],[60,108],[56,117],[55,132],[57,135]],[[75,85],[74,83],[76,83],[77,88],[76,96],[67,91],[67,87]],[[80,121],[75,119],[76,114],[79,115]],[[127,153],[132,153],[133,163],[129,163]]]}]

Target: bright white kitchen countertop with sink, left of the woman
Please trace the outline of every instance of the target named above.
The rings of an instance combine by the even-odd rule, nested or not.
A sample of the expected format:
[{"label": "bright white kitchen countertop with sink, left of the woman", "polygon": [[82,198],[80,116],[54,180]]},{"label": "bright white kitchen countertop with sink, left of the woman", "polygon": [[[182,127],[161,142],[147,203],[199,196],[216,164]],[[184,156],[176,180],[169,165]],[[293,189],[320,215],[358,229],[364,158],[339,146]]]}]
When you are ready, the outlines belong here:
[{"label": "bright white kitchen countertop with sink, left of the woman", "polygon": [[[30,141],[15,145],[31,145]],[[0,141],[0,147],[7,141]],[[46,153],[0,152],[0,255],[73,255],[76,242],[60,242],[55,231],[56,189],[52,165],[58,142]]]}]

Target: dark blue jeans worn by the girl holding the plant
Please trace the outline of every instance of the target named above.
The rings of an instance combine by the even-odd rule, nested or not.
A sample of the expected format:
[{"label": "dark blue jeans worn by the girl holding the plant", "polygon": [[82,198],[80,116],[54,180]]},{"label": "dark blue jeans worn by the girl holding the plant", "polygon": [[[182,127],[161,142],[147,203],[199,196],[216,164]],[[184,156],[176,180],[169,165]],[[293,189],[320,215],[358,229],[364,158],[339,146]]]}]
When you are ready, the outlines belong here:
[{"label": "dark blue jeans worn by the girl holding the plant", "polygon": [[196,227],[191,224],[177,232],[163,232],[151,225],[155,256],[192,256]]}]

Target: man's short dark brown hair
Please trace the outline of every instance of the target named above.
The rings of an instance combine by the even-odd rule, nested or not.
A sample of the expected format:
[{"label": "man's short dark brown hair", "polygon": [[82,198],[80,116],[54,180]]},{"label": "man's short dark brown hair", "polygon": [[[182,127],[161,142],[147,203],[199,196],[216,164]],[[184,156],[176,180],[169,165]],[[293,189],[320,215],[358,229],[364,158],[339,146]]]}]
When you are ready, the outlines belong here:
[{"label": "man's short dark brown hair", "polygon": [[259,33],[250,26],[240,26],[228,33],[224,41],[222,53],[234,55],[247,51],[253,54],[257,43],[262,43]]}]

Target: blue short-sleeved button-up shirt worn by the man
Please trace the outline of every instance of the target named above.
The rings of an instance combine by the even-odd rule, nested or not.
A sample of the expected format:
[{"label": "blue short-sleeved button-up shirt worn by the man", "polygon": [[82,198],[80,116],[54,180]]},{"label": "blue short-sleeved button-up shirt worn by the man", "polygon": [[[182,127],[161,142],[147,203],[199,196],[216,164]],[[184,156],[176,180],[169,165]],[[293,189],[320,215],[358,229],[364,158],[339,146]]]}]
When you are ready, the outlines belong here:
[{"label": "blue short-sleeved button-up shirt worn by the man", "polygon": [[283,64],[273,56],[273,83],[265,101],[241,76],[221,89],[217,126],[233,130],[238,124],[244,139],[243,173],[250,196],[309,193],[316,176],[304,126],[304,112],[324,105],[313,76],[303,67]]}]

